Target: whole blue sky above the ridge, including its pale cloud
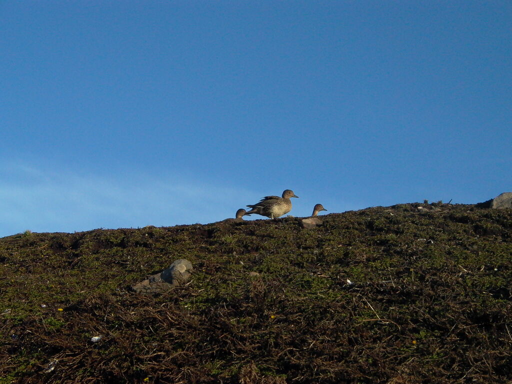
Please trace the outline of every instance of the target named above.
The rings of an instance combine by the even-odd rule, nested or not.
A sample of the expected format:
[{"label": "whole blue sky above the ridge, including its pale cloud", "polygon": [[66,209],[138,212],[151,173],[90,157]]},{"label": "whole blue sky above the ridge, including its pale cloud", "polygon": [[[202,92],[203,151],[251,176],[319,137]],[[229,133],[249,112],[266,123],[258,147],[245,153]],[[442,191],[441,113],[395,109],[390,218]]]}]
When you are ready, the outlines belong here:
[{"label": "whole blue sky above the ridge, including its pale cloud", "polygon": [[476,203],[511,144],[510,0],[0,2],[0,237]]}]

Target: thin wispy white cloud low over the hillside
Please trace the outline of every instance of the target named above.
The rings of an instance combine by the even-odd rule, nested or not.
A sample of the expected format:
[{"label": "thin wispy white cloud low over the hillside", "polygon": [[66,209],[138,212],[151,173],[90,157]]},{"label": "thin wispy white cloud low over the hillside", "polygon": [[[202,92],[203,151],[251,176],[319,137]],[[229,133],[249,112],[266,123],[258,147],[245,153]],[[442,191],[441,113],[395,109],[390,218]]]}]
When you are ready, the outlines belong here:
[{"label": "thin wispy white cloud low over the hillside", "polygon": [[6,164],[0,166],[0,237],[26,229],[73,232],[208,223],[234,215],[251,195],[179,175],[104,178]]}]

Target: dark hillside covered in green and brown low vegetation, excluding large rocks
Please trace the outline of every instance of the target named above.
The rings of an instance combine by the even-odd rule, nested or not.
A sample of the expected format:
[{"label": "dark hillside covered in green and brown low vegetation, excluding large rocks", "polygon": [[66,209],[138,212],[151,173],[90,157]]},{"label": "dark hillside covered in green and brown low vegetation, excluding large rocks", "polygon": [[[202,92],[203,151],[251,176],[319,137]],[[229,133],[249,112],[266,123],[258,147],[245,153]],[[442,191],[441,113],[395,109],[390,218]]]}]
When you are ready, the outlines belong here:
[{"label": "dark hillside covered in green and brown low vegetation, excluding large rocks", "polygon": [[[510,210],[322,219],[0,239],[0,384],[512,380]],[[187,285],[130,291],[182,258]]]}]

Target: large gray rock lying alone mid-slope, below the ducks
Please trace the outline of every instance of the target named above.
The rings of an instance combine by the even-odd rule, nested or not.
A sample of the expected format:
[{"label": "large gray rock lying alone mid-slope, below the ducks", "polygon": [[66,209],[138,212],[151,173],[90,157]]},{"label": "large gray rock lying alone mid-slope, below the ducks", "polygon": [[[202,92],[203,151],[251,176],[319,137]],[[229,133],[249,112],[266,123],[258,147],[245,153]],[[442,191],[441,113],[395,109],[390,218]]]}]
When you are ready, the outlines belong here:
[{"label": "large gray rock lying alone mid-slope, below the ducks", "polygon": [[136,284],[132,289],[137,293],[162,293],[178,285],[185,284],[190,278],[192,264],[185,259],[176,260],[169,268]]}]

